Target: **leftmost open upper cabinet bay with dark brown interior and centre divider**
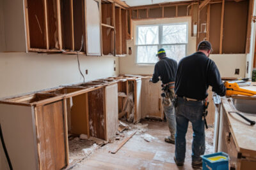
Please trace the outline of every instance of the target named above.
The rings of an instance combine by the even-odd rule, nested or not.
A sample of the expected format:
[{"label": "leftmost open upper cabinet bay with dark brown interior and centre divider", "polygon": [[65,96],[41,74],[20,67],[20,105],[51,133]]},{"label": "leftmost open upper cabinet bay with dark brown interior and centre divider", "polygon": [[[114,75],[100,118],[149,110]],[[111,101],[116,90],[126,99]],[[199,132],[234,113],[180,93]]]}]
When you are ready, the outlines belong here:
[{"label": "leftmost open upper cabinet bay with dark brown interior and centre divider", "polygon": [[60,0],[26,0],[24,3],[28,51],[60,52]]}]

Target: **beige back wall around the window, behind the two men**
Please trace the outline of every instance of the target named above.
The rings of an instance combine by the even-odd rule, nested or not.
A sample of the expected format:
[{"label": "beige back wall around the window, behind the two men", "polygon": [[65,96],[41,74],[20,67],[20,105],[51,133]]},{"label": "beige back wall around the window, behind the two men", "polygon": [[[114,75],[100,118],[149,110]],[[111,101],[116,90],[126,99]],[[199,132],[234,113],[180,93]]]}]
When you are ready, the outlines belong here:
[{"label": "beige back wall around the window, behind the two men", "polygon": [[[187,54],[196,51],[196,37],[191,37],[191,17],[166,18],[160,20],[141,20],[132,22],[132,34],[135,35],[136,25],[143,24],[165,24],[172,22],[188,22],[188,52]],[[152,74],[154,65],[138,65],[135,63],[136,48],[134,39],[127,41],[127,46],[131,47],[132,55],[120,57],[119,66],[120,74]],[[212,54],[210,57],[220,70],[221,76],[244,78],[246,67],[246,54]],[[234,74],[236,69],[240,69],[239,74]]]}]

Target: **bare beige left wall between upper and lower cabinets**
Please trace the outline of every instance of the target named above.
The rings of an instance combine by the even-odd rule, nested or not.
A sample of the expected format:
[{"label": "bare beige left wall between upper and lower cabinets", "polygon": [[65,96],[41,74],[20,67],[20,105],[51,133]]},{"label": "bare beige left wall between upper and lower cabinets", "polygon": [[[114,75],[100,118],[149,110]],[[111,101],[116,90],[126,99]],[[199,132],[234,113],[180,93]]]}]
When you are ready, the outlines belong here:
[{"label": "bare beige left wall between upper and lower cabinets", "polygon": [[[79,60],[83,74],[88,69],[86,81],[118,74],[118,57],[79,55]],[[78,83],[83,78],[76,55],[0,53],[0,80],[0,97],[6,97]]]}]

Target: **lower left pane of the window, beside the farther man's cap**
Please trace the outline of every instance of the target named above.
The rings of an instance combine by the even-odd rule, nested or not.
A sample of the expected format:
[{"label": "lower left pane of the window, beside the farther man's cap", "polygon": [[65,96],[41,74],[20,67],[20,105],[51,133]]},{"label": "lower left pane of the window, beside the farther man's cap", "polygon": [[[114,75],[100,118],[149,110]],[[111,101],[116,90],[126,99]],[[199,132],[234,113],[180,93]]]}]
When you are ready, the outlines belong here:
[{"label": "lower left pane of the window, beside the farther man's cap", "polygon": [[157,45],[138,46],[137,48],[137,63],[156,63]]}]

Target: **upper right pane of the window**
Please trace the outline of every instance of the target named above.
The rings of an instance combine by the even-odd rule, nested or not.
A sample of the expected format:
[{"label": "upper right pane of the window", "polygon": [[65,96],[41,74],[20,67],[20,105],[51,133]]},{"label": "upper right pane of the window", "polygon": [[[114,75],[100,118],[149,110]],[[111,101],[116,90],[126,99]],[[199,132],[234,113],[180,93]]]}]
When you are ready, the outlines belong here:
[{"label": "upper right pane of the window", "polygon": [[163,44],[187,43],[187,25],[163,25]]}]

